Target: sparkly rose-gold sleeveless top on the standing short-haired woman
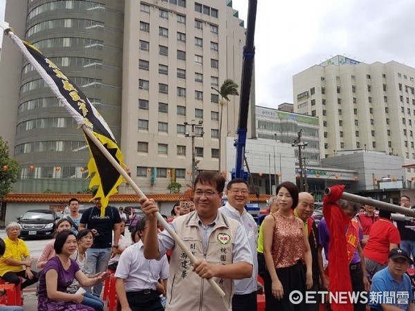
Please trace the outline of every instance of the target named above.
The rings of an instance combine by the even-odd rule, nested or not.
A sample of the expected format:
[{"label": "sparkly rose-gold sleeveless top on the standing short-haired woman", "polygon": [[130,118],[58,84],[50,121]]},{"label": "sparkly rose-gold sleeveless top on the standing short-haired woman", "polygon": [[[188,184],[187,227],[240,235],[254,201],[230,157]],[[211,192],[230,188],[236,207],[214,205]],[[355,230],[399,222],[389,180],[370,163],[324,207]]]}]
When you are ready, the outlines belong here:
[{"label": "sparkly rose-gold sleeveless top on the standing short-haired woman", "polygon": [[304,262],[303,226],[296,217],[286,218],[278,213],[273,214],[275,227],[273,232],[273,255],[275,268],[291,267],[297,261]]}]

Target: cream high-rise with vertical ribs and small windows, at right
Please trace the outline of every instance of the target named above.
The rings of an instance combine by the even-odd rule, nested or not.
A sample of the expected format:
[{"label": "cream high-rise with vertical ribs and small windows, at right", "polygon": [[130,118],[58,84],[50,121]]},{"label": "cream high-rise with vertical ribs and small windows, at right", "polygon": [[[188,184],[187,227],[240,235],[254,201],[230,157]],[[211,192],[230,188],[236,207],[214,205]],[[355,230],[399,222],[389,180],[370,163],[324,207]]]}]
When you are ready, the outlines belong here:
[{"label": "cream high-rise with vertical ribs and small windows, at right", "polygon": [[[322,158],[362,149],[415,160],[415,69],[340,55],[293,77],[294,109],[320,120]],[[411,181],[414,171],[407,171]]]}]

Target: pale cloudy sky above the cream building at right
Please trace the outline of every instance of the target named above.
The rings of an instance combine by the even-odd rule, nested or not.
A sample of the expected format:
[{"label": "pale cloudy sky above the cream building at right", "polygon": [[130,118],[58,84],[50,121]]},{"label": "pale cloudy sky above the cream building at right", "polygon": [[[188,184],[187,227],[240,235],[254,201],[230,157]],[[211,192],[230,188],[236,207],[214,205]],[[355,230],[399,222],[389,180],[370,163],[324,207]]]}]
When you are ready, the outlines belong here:
[{"label": "pale cloudy sky above the cream building at right", "polygon": [[[248,2],[232,1],[244,21]],[[414,0],[258,0],[257,105],[292,103],[293,75],[331,55],[415,67],[414,12]]]}]

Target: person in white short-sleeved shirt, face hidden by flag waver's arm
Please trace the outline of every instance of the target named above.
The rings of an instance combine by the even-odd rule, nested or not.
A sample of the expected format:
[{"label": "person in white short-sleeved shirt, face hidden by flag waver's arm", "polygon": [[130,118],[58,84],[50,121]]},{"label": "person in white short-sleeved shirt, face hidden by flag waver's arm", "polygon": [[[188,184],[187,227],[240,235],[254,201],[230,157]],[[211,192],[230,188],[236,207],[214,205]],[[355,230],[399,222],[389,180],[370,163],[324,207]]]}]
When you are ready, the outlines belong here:
[{"label": "person in white short-sleeved shirt, face hidden by flag waver's arm", "polygon": [[[140,240],[122,252],[116,270],[116,291],[122,310],[163,311],[160,294],[165,294],[169,278],[167,257],[160,261],[144,258],[144,236],[147,229],[147,217],[138,220],[136,229]],[[163,284],[158,283],[158,279]]]}]

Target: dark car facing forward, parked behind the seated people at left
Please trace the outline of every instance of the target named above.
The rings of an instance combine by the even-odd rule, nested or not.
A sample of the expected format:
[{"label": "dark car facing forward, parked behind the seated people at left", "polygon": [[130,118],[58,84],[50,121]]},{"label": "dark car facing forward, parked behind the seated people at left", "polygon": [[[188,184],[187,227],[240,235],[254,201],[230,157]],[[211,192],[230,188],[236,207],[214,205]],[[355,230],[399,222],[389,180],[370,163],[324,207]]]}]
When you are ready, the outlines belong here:
[{"label": "dark car facing forward, parked behind the seated people at left", "polygon": [[59,217],[55,211],[49,209],[30,209],[23,216],[17,218],[21,238],[52,237],[55,234],[55,223]]}]

